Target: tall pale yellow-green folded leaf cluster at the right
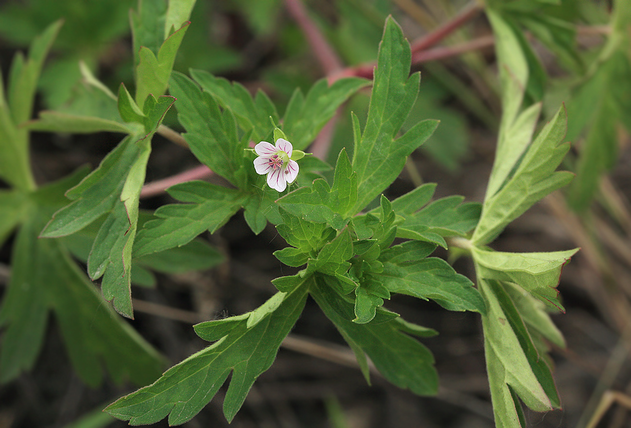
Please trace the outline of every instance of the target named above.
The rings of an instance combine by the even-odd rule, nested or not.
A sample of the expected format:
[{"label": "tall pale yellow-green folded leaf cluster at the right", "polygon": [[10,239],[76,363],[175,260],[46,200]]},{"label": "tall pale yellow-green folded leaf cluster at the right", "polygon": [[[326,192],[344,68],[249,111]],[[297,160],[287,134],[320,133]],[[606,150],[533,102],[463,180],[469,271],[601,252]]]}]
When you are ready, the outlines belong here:
[{"label": "tall pale yellow-green folded leaf cluster at the right", "polygon": [[[563,347],[563,337],[548,316],[562,310],[557,285],[562,266],[577,249],[555,253],[502,253],[487,245],[536,201],[565,186],[574,174],[556,171],[569,150],[561,107],[534,138],[541,103],[526,97],[533,80],[528,52],[505,11],[488,9],[497,40],[504,112],[497,153],[480,221],[469,241],[482,315],[485,356],[495,423],[524,427],[519,399],[543,412],[560,407],[551,376],[546,340]],[[524,107],[524,105],[526,107]]]}]

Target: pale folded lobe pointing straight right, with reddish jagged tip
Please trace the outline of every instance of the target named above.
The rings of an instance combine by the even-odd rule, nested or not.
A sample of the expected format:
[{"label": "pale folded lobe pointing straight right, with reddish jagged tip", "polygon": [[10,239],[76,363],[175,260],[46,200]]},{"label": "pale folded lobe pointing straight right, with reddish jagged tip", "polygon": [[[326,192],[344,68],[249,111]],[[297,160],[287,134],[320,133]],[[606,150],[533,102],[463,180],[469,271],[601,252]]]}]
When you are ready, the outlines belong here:
[{"label": "pale folded lobe pointing straight right, with reddish jagged tip", "polygon": [[563,265],[578,248],[553,253],[502,253],[476,247],[471,251],[480,278],[514,282],[552,309],[563,311],[557,285]]}]

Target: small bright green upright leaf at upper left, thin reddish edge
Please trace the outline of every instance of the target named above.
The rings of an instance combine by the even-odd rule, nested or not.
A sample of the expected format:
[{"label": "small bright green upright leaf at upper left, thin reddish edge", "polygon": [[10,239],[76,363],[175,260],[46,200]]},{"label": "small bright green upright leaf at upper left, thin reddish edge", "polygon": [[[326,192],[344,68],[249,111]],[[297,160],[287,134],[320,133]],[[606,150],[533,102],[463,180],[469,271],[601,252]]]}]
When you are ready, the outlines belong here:
[{"label": "small bright green upright leaf at upper left, thin reddish edge", "polygon": [[149,95],[158,97],[166,92],[177,49],[189,24],[185,22],[179,30],[169,35],[160,46],[157,56],[150,47],[140,47],[136,66],[136,102],[141,108]]}]

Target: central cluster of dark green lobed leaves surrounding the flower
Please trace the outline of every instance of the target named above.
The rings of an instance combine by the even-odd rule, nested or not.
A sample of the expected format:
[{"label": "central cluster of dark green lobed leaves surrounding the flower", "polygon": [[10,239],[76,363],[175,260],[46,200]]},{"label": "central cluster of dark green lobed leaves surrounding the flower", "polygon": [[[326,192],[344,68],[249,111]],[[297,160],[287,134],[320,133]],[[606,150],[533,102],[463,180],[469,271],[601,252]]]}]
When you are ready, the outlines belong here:
[{"label": "central cluster of dark green lobed leaves surrounding the flower", "polygon": [[[174,187],[170,192],[188,203],[156,211],[158,220],[147,223],[139,234],[139,251],[184,244],[203,230],[215,230],[242,206],[255,232],[266,220],[276,223],[290,244],[274,253],[280,261],[304,267],[296,275],[274,280],[279,291],[254,311],[198,324],[196,332],[212,345],[169,369],[154,384],[112,403],[107,412],[132,424],[156,422],[166,415],[170,424],[181,424],[213,398],[232,372],[223,403],[225,416],[232,420],[256,377],[273,362],[307,295],[338,328],[367,379],[370,358],[401,388],[436,393],[433,357],[411,337],[435,331],[408,323],[382,305],[401,293],[435,300],[451,310],[485,312],[471,281],[442,259],[428,257],[438,245],[445,246],[445,237],[463,237],[473,229],[480,205],[461,204],[459,197],[428,203],[432,184],[392,202],[380,196],[401,172],[406,157],[437,125],[423,121],[398,135],[418,94],[419,74],[409,73],[410,47],[390,18],[363,131],[353,116],[352,160],[342,150],[332,185],[315,179],[276,201],[271,191],[254,187],[261,186],[262,178],[252,174],[252,160],[243,163],[243,156],[235,155],[254,136],[269,135],[270,116],[278,120],[268,98],[258,93],[252,99],[241,86],[199,71],[191,74],[201,89],[186,76],[174,75],[171,90],[178,98],[180,122],[192,152],[238,189],[200,182]],[[296,92],[282,121],[283,131],[276,129],[274,134],[304,148],[334,108],[363,85],[365,81],[358,79],[328,87],[319,82],[306,97]],[[360,213],[375,198],[379,207]],[[392,246],[396,237],[408,241]]]}]

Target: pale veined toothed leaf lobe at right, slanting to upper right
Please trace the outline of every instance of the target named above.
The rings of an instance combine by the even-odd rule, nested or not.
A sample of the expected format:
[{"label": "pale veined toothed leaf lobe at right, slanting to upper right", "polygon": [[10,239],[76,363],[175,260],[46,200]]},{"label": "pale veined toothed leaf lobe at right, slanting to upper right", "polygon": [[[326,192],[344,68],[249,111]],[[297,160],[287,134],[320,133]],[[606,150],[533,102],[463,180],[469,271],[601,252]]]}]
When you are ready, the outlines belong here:
[{"label": "pale veined toothed leaf lobe at right, slanting to upper right", "polygon": [[562,107],[529,146],[512,177],[497,193],[487,195],[480,222],[471,238],[476,246],[493,241],[506,225],[536,201],[572,180],[574,174],[555,171],[570,148],[569,144],[562,143],[566,124]]}]

